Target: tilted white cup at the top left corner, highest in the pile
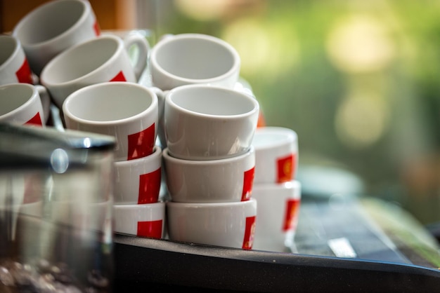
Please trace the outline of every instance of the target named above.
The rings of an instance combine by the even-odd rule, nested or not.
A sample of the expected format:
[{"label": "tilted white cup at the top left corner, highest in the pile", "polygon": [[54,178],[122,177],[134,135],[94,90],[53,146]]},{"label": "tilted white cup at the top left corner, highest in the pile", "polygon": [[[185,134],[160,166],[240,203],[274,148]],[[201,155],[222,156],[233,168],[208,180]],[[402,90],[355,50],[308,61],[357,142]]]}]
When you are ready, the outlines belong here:
[{"label": "tilted white cup at the top left corner, highest in the pile", "polygon": [[38,76],[60,52],[99,34],[96,16],[86,0],[49,1],[27,13],[13,29]]}]

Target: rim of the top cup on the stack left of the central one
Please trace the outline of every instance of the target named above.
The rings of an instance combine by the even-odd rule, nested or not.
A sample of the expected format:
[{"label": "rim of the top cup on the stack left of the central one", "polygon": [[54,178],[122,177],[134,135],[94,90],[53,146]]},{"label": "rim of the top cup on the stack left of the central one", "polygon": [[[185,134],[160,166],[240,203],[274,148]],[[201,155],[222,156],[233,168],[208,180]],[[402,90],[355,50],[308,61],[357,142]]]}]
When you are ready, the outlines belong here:
[{"label": "rim of the top cup on the stack left of the central one", "polygon": [[[79,95],[82,95],[84,92],[87,92],[89,90],[93,90],[94,88],[101,88],[103,86],[124,86],[124,87],[138,88],[139,90],[144,90],[145,92],[149,93],[150,96],[152,97],[152,102],[146,109],[139,112],[138,114],[135,114],[134,116],[129,116],[126,118],[115,119],[115,120],[109,120],[109,121],[93,121],[93,120],[89,120],[89,119],[79,118],[79,117],[72,114],[72,112],[68,108],[69,103],[72,100],[77,98]],[[130,123],[132,121],[136,121],[138,118],[141,118],[145,114],[153,111],[153,109],[155,109],[155,108],[157,109],[157,107],[158,107],[157,104],[158,104],[157,95],[155,93],[153,93],[153,91],[150,90],[150,88],[146,88],[145,86],[142,86],[138,83],[132,83],[129,81],[108,81],[108,82],[104,82],[104,83],[95,83],[90,86],[85,86],[84,88],[80,88],[79,90],[76,90],[74,93],[70,94],[68,97],[66,97],[65,101],[63,102],[63,113],[66,116],[68,116],[70,119],[72,119],[73,121],[77,121],[79,123],[86,123],[89,125],[101,125],[101,126],[121,125],[123,123]]]}]

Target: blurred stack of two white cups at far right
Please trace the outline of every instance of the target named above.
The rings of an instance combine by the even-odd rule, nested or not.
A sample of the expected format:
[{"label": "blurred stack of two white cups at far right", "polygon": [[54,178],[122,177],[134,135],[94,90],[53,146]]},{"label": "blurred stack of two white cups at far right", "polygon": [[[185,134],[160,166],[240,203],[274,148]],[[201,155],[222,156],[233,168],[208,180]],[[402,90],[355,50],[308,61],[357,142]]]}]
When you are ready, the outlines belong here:
[{"label": "blurred stack of two white cups at far right", "polygon": [[301,184],[295,180],[297,134],[289,128],[258,128],[252,146],[255,149],[252,196],[258,202],[254,249],[285,251],[293,244],[301,202]]}]

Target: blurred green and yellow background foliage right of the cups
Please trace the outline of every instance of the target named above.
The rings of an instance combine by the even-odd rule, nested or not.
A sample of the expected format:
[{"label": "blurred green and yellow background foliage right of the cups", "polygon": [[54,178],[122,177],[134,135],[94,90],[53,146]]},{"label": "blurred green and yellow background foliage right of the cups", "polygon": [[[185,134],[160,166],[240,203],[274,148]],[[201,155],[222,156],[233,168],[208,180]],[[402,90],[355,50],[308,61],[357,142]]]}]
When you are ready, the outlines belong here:
[{"label": "blurred green and yellow background foliage right of the cups", "polygon": [[299,172],[346,170],[365,195],[440,221],[440,1],[160,0],[155,10],[157,37],[235,46],[266,124],[297,132]]}]

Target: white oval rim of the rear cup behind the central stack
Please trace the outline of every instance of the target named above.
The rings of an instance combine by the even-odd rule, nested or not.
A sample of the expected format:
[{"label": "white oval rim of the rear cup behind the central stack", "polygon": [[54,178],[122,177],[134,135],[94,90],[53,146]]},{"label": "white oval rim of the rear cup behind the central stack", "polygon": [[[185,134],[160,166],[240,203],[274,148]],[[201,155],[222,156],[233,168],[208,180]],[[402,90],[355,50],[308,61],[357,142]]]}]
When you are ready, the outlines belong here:
[{"label": "white oval rim of the rear cup behind the central stack", "polygon": [[[162,48],[162,46],[165,46],[172,41],[176,41],[179,39],[190,39],[190,38],[213,41],[214,43],[218,43],[219,45],[226,47],[233,55],[233,59],[234,59],[233,67],[231,67],[224,74],[221,74],[221,75],[215,76],[215,77],[211,77],[209,79],[188,79],[188,78],[185,78],[182,76],[177,76],[175,74],[171,74],[168,71],[165,71],[162,68],[162,66],[160,66],[160,64],[157,63],[157,59],[156,59],[157,51],[160,48]],[[151,50],[150,63],[152,65],[152,67],[157,69],[157,71],[160,71],[160,73],[162,75],[170,76],[170,77],[172,77],[172,79],[175,79],[176,81],[179,81],[181,83],[212,83],[214,81],[223,80],[226,78],[226,76],[233,76],[235,74],[235,72],[239,71],[241,60],[240,60],[240,55],[238,54],[237,50],[235,50],[235,48],[233,46],[231,46],[230,43],[228,43],[222,39],[219,39],[215,36],[210,36],[208,34],[188,33],[188,34],[175,34],[175,35],[167,36],[167,38],[157,42],[157,44]]]}]

